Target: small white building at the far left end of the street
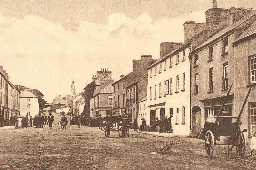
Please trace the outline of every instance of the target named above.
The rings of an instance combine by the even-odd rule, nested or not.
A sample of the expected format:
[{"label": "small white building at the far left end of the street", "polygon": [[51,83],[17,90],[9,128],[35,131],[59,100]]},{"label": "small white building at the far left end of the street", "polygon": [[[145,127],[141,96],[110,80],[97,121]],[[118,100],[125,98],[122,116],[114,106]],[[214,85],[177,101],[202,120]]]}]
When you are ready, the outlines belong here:
[{"label": "small white building at the far left end of the street", "polygon": [[20,115],[32,116],[38,115],[39,103],[38,98],[30,91],[21,91],[20,94]]}]

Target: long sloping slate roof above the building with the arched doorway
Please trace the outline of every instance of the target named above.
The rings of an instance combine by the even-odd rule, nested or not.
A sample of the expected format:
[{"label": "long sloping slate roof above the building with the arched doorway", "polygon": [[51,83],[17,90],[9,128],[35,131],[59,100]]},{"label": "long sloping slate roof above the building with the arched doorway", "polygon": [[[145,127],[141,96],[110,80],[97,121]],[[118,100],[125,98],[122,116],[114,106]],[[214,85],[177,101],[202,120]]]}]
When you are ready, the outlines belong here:
[{"label": "long sloping slate roof above the building with the arched doorway", "polygon": [[247,21],[249,18],[251,18],[252,16],[254,16],[256,14],[256,11],[248,14],[247,16],[245,16],[244,18],[242,18],[241,20],[235,22],[234,24],[220,30],[218,33],[216,33],[215,35],[213,35],[211,38],[209,38],[207,41],[205,41],[203,44],[201,44],[200,46],[198,46],[197,48],[195,48],[193,50],[199,50],[200,48],[203,48],[205,46],[207,46],[208,44],[211,44],[212,42],[214,42],[215,40],[217,40],[218,38],[221,38],[223,35],[228,34],[229,32],[231,32],[232,30],[234,30],[237,26],[239,26],[240,24],[242,24],[243,22]]}]

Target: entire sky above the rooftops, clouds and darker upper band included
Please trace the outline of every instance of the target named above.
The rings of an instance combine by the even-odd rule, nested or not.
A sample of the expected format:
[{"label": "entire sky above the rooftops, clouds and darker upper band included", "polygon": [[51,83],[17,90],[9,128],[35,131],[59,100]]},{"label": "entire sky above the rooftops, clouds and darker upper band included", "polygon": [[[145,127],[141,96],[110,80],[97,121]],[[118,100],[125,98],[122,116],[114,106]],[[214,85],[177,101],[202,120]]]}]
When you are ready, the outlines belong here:
[{"label": "entire sky above the rooftops, clouds and darker upper band included", "polygon": [[[205,22],[212,0],[0,0],[0,65],[13,84],[38,89],[51,103],[76,93],[101,68],[115,80],[132,59],[159,59],[161,42],[183,42],[183,23]],[[220,8],[256,9],[256,0],[217,0]]]}]

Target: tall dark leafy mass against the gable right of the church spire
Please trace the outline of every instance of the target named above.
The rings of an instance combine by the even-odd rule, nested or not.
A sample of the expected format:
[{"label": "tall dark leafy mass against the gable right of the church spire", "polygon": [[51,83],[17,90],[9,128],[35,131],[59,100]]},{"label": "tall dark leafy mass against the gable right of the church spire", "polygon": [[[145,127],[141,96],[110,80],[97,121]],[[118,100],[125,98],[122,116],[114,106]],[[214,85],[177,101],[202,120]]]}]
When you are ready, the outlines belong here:
[{"label": "tall dark leafy mass against the gable right of the church spire", "polygon": [[85,115],[87,118],[89,117],[90,113],[90,98],[92,98],[95,89],[95,81],[92,81],[84,88],[84,109],[82,115]]}]

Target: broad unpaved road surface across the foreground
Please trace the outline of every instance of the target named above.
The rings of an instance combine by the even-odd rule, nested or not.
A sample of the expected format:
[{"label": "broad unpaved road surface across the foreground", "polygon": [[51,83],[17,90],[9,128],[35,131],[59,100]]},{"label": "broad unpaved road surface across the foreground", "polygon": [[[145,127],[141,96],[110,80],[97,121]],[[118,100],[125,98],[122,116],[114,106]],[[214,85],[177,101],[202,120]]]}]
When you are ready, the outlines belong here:
[{"label": "broad unpaved road surface across the foreground", "polygon": [[[56,119],[56,118],[55,118]],[[56,119],[57,120],[57,119]],[[255,169],[255,155],[246,151],[238,159],[227,157],[226,146],[216,146],[213,158],[206,157],[204,143],[187,137],[159,137],[135,133],[110,137],[95,127],[67,126],[1,130],[0,169]],[[172,142],[168,153],[159,146]],[[156,152],[156,153],[152,153]]]}]

